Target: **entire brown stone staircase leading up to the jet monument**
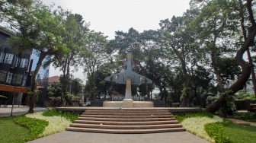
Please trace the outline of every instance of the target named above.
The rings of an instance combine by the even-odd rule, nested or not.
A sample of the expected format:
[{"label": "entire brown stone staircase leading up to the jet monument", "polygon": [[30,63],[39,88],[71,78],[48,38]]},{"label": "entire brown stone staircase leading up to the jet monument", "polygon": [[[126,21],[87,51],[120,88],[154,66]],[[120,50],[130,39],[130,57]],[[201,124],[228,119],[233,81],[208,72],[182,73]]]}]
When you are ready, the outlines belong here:
[{"label": "entire brown stone staircase leading up to the jet monument", "polygon": [[168,110],[157,108],[91,108],[66,130],[122,134],[186,131]]}]

